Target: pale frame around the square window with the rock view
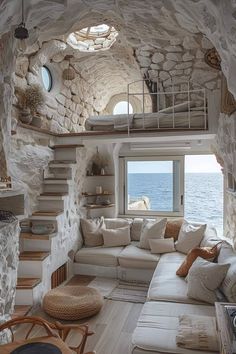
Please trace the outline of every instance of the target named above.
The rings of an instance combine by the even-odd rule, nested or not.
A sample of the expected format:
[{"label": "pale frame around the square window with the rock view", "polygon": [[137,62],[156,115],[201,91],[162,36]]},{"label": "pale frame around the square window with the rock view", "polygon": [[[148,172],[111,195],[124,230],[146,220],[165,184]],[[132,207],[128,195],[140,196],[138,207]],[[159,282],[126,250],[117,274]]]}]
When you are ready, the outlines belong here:
[{"label": "pale frame around the square window with the rock view", "polygon": [[[178,210],[173,211],[154,211],[154,210],[129,210],[128,209],[128,174],[127,165],[129,161],[178,161],[178,171],[173,171],[173,206]],[[120,215],[129,216],[167,216],[167,217],[183,217],[184,216],[184,156],[132,156],[120,157]],[[176,176],[176,177],[175,177]]]}]

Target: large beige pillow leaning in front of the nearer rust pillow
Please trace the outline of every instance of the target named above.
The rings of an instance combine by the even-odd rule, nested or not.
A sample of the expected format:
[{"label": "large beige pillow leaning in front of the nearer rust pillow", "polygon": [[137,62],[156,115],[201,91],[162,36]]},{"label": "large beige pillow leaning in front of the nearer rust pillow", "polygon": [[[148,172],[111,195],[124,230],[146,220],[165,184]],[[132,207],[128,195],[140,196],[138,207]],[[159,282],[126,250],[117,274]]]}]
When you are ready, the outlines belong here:
[{"label": "large beige pillow leaning in front of the nearer rust pillow", "polygon": [[187,296],[214,304],[217,301],[216,289],[220,286],[230,264],[208,262],[198,257],[188,273]]}]

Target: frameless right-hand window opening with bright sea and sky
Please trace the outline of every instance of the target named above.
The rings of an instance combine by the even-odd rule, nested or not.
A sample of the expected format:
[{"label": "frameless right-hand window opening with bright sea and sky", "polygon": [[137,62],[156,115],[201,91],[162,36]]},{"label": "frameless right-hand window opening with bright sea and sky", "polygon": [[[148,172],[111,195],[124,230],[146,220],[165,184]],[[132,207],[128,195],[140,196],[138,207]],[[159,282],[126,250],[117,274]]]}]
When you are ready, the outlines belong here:
[{"label": "frameless right-hand window opening with bright sea and sky", "polygon": [[184,199],[186,219],[205,222],[223,234],[223,174],[214,155],[185,156]]}]

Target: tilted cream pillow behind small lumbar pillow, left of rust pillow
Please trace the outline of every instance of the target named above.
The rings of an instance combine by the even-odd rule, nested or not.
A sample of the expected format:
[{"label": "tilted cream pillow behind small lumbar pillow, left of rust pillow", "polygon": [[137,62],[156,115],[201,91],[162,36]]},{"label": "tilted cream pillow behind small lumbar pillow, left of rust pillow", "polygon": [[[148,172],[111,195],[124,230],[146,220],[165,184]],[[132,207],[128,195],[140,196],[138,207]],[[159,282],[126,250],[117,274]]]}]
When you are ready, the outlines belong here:
[{"label": "tilted cream pillow behind small lumbar pillow, left of rust pillow", "polygon": [[140,248],[150,250],[149,240],[164,238],[167,219],[159,221],[144,220],[140,237]]}]

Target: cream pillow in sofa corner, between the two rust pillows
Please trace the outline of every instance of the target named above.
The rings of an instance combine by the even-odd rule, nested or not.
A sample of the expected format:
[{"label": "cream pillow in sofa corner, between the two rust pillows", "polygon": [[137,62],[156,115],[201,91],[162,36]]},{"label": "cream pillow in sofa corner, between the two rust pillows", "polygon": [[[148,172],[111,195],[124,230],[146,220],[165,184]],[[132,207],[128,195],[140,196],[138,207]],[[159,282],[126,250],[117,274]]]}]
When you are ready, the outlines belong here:
[{"label": "cream pillow in sofa corner, between the two rust pillows", "polygon": [[176,242],[176,250],[187,254],[192,248],[199,246],[205,230],[206,224],[191,224],[184,220]]}]

